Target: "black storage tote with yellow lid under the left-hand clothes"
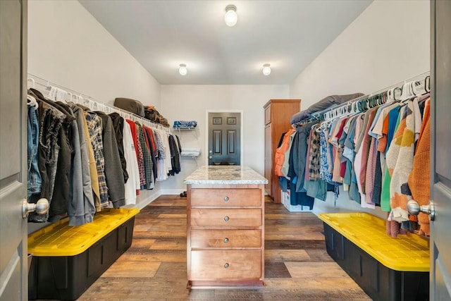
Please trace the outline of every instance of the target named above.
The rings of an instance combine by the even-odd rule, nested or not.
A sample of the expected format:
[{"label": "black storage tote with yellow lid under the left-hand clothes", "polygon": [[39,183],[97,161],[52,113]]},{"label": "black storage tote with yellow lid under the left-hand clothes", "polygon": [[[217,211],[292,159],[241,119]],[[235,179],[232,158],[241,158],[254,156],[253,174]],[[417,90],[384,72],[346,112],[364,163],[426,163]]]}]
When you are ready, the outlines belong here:
[{"label": "black storage tote with yellow lid under the left-hand clothes", "polygon": [[132,244],[139,209],[103,209],[92,223],[68,226],[68,219],[28,236],[33,255],[28,298],[75,300]]}]

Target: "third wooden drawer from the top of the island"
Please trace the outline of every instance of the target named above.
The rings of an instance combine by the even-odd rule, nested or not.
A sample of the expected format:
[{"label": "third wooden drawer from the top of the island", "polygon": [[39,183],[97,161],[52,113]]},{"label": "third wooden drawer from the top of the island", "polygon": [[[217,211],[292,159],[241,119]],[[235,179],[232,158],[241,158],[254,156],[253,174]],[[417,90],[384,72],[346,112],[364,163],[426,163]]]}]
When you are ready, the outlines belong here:
[{"label": "third wooden drawer from the top of the island", "polygon": [[261,231],[192,230],[191,247],[261,247]]}]

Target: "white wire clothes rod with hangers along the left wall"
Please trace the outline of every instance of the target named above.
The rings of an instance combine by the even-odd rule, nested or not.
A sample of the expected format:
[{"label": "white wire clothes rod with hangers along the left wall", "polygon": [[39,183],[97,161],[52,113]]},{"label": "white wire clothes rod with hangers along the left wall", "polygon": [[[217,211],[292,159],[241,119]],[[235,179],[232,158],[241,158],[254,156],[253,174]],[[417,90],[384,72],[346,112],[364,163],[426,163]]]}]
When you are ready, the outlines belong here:
[{"label": "white wire clothes rod with hangers along the left wall", "polygon": [[[33,75],[31,73],[28,73],[27,86],[44,92],[44,94],[47,94],[45,96],[48,96],[51,87],[56,87],[61,90],[64,90],[64,92],[67,92],[69,102],[82,104],[83,106],[89,107],[89,109],[92,109],[93,111],[104,111],[105,113],[116,112],[125,119],[138,121],[143,125],[149,126],[149,128],[156,128],[158,130],[164,130],[167,133],[171,133],[171,128],[166,128],[159,123],[149,121],[148,119],[142,118],[141,116],[136,115],[135,113],[125,111],[116,106],[111,106],[111,104],[106,104],[105,102],[100,102],[99,100],[94,99],[93,97],[90,97],[86,94],[82,94],[67,87],[63,87],[54,82],[50,82],[49,80],[45,80],[44,78],[39,78],[39,76]],[[37,86],[39,86],[40,88]]]}]

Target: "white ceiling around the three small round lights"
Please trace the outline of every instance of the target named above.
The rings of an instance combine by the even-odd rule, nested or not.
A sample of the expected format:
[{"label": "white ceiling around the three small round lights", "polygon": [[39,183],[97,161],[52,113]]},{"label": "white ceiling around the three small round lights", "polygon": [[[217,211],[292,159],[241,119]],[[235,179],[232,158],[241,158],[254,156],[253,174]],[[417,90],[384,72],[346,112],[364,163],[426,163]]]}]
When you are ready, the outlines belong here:
[{"label": "white ceiling around the three small round lights", "polygon": [[[290,84],[371,1],[80,3],[163,85],[268,85]],[[228,4],[237,6],[235,27],[224,23]]]}]

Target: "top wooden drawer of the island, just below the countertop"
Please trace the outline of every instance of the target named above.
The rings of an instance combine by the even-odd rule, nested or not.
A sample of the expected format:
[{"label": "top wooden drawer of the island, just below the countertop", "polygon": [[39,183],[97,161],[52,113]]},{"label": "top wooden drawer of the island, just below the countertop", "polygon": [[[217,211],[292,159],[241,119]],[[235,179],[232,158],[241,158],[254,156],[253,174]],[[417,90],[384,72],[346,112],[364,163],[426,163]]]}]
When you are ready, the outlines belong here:
[{"label": "top wooden drawer of the island, just below the countertop", "polygon": [[260,207],[261,190],[192,189],[191,207]]}]

